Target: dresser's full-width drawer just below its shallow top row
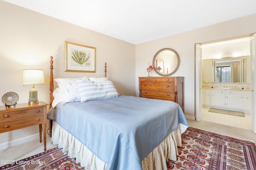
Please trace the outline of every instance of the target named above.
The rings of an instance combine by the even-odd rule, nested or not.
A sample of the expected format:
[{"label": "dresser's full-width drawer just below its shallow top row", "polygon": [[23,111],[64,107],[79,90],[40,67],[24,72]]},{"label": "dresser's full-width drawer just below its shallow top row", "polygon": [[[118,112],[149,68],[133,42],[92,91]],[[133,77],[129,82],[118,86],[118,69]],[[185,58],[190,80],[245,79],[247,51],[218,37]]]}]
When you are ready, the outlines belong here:
[{"label": "dresser's full-width drawer just below its shallow top row", "polygon": [[141,82],[140,88],[143,90],[160,90],[160,91],[174,91],[174,83],[173,82]]}]

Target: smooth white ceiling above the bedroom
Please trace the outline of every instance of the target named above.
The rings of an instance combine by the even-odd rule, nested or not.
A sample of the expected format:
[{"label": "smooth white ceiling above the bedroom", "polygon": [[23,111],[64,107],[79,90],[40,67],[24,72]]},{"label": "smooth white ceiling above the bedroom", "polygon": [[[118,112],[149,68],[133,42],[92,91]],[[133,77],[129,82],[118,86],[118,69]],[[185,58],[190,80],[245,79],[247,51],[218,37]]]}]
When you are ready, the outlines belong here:
[{"label": "smooth white ceiling above the bedroom", "polygon": [[256,0],[4,0],[133,44],[256,13]]}]

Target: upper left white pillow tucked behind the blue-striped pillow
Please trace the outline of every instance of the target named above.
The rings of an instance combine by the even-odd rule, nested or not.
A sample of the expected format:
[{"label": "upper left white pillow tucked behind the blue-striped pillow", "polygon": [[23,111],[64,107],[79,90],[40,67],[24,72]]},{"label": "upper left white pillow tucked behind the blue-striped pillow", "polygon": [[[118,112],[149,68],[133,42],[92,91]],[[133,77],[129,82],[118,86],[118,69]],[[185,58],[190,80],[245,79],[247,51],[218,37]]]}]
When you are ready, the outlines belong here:
[{"label": "upper left white pillow tucked behind the blue-striped pillow", "polygon": [[[89,80],[88,77],[82,77],[82,80]],[[54,79],[62,90],[62,102],[80,101],[80,93],[76,78],[56,78]]]}]

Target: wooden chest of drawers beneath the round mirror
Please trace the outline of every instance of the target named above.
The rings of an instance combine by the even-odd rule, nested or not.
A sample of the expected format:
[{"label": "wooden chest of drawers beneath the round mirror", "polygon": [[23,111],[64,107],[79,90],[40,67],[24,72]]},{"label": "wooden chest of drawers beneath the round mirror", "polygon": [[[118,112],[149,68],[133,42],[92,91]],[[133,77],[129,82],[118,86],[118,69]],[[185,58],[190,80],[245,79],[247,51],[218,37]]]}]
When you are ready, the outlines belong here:
[{"label": "wooden chest of drawers beneath the round mirror", "polygon": [[140,97],[170,100],[184,111],[184,77],[139,77]]}]

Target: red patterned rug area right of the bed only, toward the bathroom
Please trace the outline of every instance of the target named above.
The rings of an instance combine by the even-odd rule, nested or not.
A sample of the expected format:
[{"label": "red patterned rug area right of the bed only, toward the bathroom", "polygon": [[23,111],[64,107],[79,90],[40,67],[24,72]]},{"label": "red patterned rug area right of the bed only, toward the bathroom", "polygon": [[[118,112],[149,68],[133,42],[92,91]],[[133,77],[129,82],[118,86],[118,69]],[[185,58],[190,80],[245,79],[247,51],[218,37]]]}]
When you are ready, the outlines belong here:
[{"label": "red patterned rug area right of the bed only, toward the bathroom", "polygon": [[256,170],[252,142],[189,127],[178,150],[177,161],[167,162],[169,170]]}]

